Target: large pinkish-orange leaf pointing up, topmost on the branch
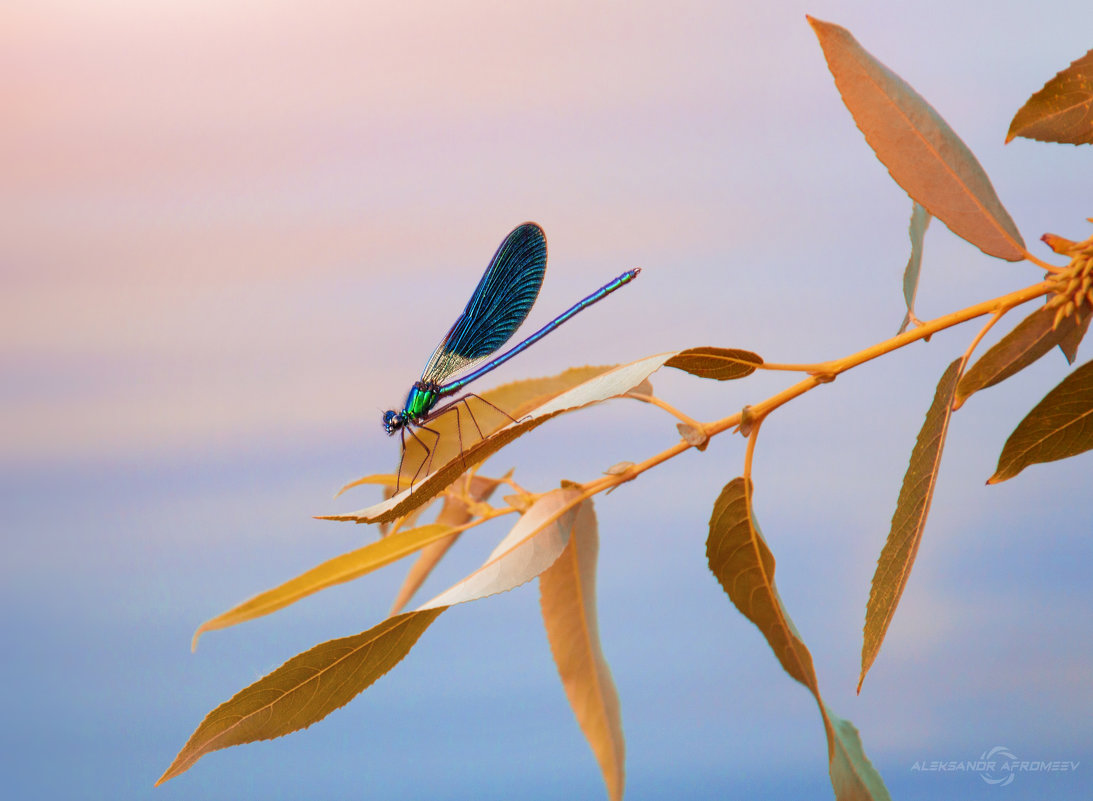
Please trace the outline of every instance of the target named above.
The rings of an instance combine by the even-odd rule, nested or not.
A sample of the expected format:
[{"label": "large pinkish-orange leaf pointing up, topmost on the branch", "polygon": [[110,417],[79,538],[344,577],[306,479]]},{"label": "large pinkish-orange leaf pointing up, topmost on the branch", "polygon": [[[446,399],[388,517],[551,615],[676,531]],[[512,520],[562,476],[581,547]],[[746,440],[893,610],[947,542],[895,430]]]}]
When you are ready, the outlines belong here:
[{"label": "large pinkish-orange leaf pointing up, topmost on the branch", "polygon": [[808,20],[843,102],[895,182],[985,254],[1025,258],[1024,240],[990,179],[949,123],[846,28]]}]

